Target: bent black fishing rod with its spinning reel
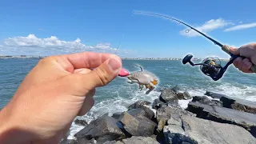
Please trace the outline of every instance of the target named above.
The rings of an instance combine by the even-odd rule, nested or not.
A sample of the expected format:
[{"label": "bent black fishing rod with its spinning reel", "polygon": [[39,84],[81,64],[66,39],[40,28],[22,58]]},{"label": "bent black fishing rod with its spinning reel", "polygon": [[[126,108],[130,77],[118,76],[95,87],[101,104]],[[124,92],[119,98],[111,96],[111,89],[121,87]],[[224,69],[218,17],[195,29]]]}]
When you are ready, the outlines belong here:
[{"label": "bent black fishing rod with its spinning reel", "polygon": [[[163,18],[169,18],[171,20],[174,20],[176,22],[182,23],[185,26],[190,27],[190,29],[197,31],[199,34],[202,34],[202,36],[204,36],[205,38],[209,39],[211,42],[214,42],[215,45],[218,45],[222,48],[222,50],[224,52],[226,52],[226,54],[229,54],[231,59],[229,62],[226,63],[226,66],[221,66],[221,62],[218,58],[205,58],[202,63],[197,63],[194,64],[193,62],[191,62],[191,58],[193,57],[193,55],[191,54],[187,54],[185,58],[183,58],[182,63],[185,65],[186,63],[190,63],[191,66],[200,66],[200,70],[202,71],[203,74],[206,74],[207,76],[210,76],[210,78],[212,78],[214,81],[218,81],[218,79],[222,78],[223,74],[225,73],[226,69],[228,66],[230,66],[231,63],[234,62],[235,58],[241,57],[242,59],[246,58],[244,56],[241,55],[234,55],[230,53],[230,46],[227,45],[223,45],[222,43],[214,40],[213,38],[210,38],[209,36],[207,36],[206,34],[203,34],[201,31],[196,30],[194,27],[186,24],[185,22],[182,22],[176,18],[171,18],[169,16],[166,15],[162,15],[162,14],[154,14],[154,13],[148,13],[148,12],[141,12],[141,11],[134,11],[134,13],[138,13],[138,14],[150,14],[150,15],[155,15],[155,16],[159,16],[159,17],[163,17]],[[186,33],[189,33],[190,30],[186,30]],[[250,70],[253,73],[256,73],[256,65],[251,66]]]}]

